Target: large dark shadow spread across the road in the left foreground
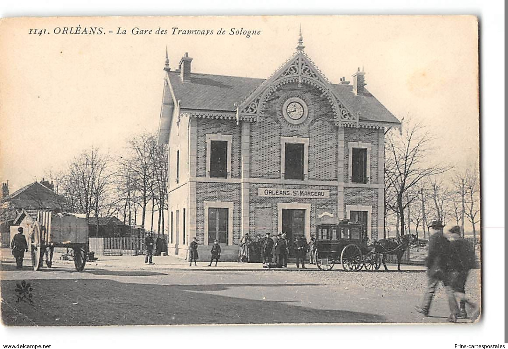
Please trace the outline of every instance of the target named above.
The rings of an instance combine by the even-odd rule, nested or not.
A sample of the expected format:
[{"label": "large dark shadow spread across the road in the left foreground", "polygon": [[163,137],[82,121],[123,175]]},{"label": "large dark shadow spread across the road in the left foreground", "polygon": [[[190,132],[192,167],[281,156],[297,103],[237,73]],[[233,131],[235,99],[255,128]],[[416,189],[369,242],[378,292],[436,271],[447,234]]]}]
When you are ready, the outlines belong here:
[{"label": "large dark shadow spread across the road in the left foreground", "polygon": [[[159,285],[108,279],[30,280],[34,304],[16,303],[19,280],[2,280],[2,320],[7,326],[166,324],[379,323],[373,313],[303,306],[313,284],[275,284],[277,298],[263,300],[265,284]],[[207,294],[244,287],[245,298]],[[202,293],[203,292],[203,293]],[[295,296],[298,295],[298,298]],[[259,300],[247,299],[257,298]],[[289,304],[292,303],[292,304]],[[297,303],[297,304],[293,304]],[[307,303],[305,303],[307,304]]]}]

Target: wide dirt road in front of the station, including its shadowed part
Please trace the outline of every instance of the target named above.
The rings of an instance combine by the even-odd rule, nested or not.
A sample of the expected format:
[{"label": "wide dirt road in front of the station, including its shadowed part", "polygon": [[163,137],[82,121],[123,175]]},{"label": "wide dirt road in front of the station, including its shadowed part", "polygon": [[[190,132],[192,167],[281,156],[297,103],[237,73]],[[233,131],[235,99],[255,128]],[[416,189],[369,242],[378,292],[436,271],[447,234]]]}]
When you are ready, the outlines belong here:
[{"label": "wide dirt road in front of the station, including its shadowed part", "polygon": [[[442,288],[432,317],[420,303],[425,272],[132,270],[71,266],[17,271],[2,263],[2,320],[15,326],[246,323],[442,323]],[[468,285],[479,284],[474,271]],[[16,283],[33,304],[16,303]],[[479,287],[468,291],[480,299]]]}]

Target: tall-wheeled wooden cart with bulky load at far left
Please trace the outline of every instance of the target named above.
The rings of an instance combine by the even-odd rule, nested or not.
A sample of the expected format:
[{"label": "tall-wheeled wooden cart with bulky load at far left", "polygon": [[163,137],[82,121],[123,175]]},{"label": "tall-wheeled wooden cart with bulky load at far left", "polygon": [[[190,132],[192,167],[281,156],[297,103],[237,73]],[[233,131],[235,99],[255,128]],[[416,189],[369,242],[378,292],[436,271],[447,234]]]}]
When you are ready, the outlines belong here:
[{"label": "tall-wheeled wooden cart with bulky load at far left", "polygon": [[76,270],[82,271],[88,252],[87,219],[69,213],[37,211],[37,217],[29,225],[28,245],[34,271],[42,267],[44,256],[51,268],[55,247],[72,249]]}]

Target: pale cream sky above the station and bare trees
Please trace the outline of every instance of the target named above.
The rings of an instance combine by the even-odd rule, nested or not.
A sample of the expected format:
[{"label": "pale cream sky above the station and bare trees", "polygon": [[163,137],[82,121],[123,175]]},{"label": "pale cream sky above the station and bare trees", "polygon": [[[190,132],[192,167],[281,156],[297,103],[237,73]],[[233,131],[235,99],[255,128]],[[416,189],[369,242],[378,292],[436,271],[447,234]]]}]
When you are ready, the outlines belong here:
[{"label": "pale cream sky above the station and bare trees", "polygon": [[[156,131],[166,46],[172,69],[188,52],[195,72],[266,78],[294,52],[300,23],[305,51],[332,82],[352,81],[363,67],[367,89],[395,116],[433,131],[436,161],[459,169],[478,161],[472,16],[32,18],[2,23],[2,181],[12,193],[84,148],[117,153],[130,135]],[[77,25],[127,34],[53,31]],[[153,32],[133,35],[134,27]],[[160,27],[168,34],[154,34]],[[214,34],[172,35],[173,27]],[[232,27],[261,34],[227,35]],[[51,34],[29,35],[30,28]],[[219,28],[226,35],[216,35]]]}]

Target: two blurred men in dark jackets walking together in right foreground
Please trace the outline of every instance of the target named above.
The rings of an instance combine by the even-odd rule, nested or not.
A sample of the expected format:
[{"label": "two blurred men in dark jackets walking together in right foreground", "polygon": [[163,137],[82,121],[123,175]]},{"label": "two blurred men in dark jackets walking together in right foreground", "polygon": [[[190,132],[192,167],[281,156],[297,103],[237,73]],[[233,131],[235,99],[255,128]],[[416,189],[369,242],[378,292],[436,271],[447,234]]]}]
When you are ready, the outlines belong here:
[{"label": "two blurred men in dark jackets walking together in right foreground", "polygon": [[436,287],[442,282],[450,306],[449,321],[467,319],[466,304],[472,312],[470,318],[475,319],[479,314],[478,305],[465,293],[468,272],[477,263],[473,246],[461,237],[460,227],[452,227],[447,233],[443,233],[443,227],[438,220],[432,221],[429,226],[427,289],[422,305],[415,306],[415,309],[427,316]]}]

